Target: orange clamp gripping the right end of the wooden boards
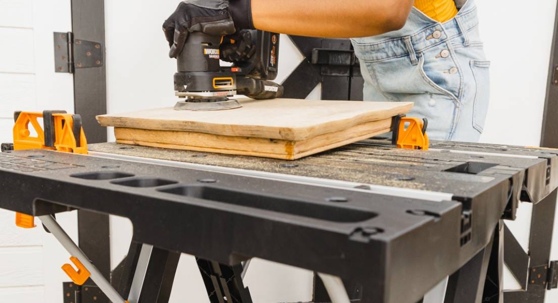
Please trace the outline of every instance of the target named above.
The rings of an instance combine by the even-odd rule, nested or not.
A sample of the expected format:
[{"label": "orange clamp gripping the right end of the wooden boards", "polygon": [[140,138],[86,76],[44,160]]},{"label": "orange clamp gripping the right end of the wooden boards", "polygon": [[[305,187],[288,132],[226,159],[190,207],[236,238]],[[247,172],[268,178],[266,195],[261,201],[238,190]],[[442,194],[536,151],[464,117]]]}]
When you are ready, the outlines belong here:
[{"label": "orange clamp gripping the right end of the wooden boards", "polygon": [[402,117],[399,123],[397,147],[408,150],[428,150],[429,140],[419,118]]}]

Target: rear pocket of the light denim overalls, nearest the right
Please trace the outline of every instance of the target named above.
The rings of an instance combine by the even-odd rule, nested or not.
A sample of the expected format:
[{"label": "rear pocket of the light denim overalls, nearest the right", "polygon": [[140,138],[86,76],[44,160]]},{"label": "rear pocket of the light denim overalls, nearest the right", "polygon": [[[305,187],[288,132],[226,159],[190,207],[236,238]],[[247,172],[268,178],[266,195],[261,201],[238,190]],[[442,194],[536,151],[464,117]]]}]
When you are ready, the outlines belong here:
[{"label": "rear pocket of the light denim overalls, nearest the right", "polygon": [[484,121],[487,117],[488,100],[490,97],[490,61],[471,60],[470,66],[475,78],[473,127],[482,133],[484,129]]}]

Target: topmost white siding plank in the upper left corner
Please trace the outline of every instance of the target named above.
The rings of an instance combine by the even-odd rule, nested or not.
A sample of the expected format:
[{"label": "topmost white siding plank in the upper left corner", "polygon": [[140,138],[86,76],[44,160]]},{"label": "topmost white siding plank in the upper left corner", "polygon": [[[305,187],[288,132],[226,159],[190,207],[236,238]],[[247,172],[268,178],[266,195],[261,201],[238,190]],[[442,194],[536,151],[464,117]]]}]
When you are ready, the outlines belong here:
[{"label": "topmost white siding plank in the upper left corner", "polygon": [[0,0],[0,26],[32,28],[31,0]]}]

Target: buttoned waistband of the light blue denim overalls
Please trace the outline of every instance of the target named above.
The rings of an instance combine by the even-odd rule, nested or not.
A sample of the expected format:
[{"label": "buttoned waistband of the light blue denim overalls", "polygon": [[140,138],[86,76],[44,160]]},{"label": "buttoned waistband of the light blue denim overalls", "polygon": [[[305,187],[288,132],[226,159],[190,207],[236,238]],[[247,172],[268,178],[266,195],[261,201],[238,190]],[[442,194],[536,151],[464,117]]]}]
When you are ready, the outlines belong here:
[{"label": "buttoned waistband of the light blue denim overalls", "polygon": [[[414,8],[413,8],[414,9]],[[417,12],[413,12],[417,13]],[[410,20],[410,22],[412,22]],[[415,55],[433,46],[461,36],[464,45],[469,45],[468,32],[479,23],[476,6],[467,6],[455,18],[444,23],[436,23],[411,35],[386,40],[366,42],[366,39],[353,39],[355,52],[359,59],[380,61],[407,55]],[[409,25],[406,25],[407,27]],[[412,28],[412,24],[410,25]],[[417,25],[418,26],[418,25]]]}]

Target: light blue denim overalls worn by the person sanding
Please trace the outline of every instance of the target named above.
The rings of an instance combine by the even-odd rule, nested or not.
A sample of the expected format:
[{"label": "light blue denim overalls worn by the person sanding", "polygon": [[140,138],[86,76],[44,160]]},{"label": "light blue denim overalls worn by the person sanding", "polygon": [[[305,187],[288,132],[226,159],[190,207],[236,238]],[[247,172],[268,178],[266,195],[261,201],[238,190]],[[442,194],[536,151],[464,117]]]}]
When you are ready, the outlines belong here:
[{"label": "light blue denim overalls worn by the person sanding", "polygon": [[364,100],[415,103],[407,116],[427,118],[431,139],[479,140],[490,62],[473,0],[444,23],[413,7],[401,30],[352,42],[365,81]]}]

